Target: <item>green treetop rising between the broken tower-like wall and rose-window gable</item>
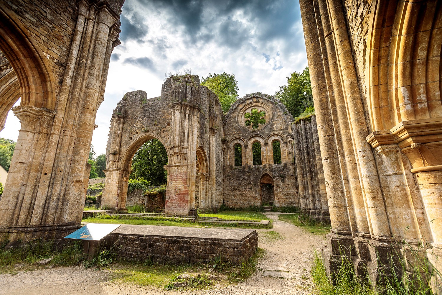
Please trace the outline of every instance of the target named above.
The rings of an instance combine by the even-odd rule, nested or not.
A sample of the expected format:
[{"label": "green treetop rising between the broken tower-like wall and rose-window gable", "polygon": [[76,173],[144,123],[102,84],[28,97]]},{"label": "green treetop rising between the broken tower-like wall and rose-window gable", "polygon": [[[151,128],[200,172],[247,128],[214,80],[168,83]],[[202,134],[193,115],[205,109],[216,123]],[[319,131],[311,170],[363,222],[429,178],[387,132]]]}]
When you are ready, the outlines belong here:
[{"label": "green treetop rising between the broken tower-like wall and rose-window gable", "polygon": [[218,96],[224,113],[229,111],[232,103],[238,98],[238,81],[234,74],[222,72],[221,74],[209,74],[202,77],[201,85],[206,86]]}]

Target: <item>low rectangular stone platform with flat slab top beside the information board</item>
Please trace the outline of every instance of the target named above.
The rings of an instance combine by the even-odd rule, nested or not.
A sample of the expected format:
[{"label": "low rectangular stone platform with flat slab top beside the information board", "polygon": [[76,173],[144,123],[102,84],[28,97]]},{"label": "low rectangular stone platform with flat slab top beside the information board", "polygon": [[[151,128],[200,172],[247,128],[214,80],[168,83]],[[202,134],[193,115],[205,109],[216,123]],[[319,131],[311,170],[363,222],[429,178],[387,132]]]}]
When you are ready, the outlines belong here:
[{"label": "low rectangular stone platform with flat slab top beside the information board", "polygon": [[121,225],[107,236],[118,257],[131,261],[198,263],[220,257],[239,264],[258,248],[258,234],[248,229]]}]

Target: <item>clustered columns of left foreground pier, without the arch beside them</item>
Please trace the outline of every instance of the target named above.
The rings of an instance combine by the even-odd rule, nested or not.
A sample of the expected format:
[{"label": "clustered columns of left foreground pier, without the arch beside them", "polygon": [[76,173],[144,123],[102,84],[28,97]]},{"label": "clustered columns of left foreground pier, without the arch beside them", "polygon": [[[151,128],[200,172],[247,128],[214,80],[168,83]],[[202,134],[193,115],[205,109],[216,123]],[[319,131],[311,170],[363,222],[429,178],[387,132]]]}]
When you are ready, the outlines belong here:
[{"label": "clustered columns of left foreground pier, without the arch beside them", "polygon": [[0,233],[11,242],[61,238],[80,226],[95,115],[103,101],[110,53],[119,44],[122,4],[78,1],[55,109],[27,105],[32,93],[14,108],[22,128],[0,200]]}]

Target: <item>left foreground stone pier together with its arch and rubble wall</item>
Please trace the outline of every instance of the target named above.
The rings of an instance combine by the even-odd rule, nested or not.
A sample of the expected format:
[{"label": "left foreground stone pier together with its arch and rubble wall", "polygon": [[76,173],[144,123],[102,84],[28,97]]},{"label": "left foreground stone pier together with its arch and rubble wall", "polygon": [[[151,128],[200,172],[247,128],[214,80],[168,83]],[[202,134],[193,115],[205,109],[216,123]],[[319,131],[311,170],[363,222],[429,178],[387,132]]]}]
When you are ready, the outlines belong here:
[{"label": "left foreground stone pier together with its arch and rubble wall", "polygon": [[1,128],[21,97],[13,108],[21,128],[0,199],[0,239],[60,238],[80,226],[122,4],[0,2]]}]

